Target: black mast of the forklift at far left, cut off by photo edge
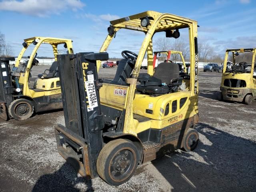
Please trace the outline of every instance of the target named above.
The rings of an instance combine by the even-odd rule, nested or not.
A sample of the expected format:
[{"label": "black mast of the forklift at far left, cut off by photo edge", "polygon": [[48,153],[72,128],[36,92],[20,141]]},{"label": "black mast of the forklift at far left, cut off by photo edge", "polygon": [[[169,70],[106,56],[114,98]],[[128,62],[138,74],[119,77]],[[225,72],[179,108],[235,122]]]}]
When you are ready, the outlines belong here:
[{"label": "black mast of the forklift at far left, cut off by photo edge", "polygon": [[14,92],[9,64],[10,61],[15,61],[15,58],[0,58],[0,117],[4,120],[8,119],[7,106],[13,101],[12,93]]}]

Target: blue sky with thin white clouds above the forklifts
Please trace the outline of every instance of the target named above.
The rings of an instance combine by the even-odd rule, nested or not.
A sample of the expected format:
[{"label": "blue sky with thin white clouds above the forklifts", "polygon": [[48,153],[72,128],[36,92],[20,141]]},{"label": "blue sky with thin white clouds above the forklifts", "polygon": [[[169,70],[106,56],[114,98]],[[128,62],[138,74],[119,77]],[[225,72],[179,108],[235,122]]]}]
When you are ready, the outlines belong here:
[{"label": "blue sky with thin white clouds above the forklifts", "polygon": [[[72,39],[75,53],[98,52],[110,20],[146,10],[197,20],[198,42],[210,44],[216,54],[224,55],[227,48],[256,47],[256,0],[0,0],[0,32],[15,56],[23,39],[33,36]],[[120,58],[122,50],[138,53],[144,34],[119,32],[110,44],[110,57]],[[165,34],[154,37],[153,44],[161,36]],[[52,52],[42,48],[38,56]]]}]

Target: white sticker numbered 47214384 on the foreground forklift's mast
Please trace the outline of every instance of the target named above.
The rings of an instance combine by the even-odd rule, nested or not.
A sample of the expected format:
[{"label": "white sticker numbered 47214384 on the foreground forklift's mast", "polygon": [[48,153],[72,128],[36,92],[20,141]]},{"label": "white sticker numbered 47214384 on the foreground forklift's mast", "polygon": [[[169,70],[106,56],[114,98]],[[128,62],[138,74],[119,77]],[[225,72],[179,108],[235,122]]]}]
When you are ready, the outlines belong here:
[{"label": "white sticker numbered 47214384 on the foreground forklift's mast", "polygon": [[87,97],[89,102],[89,108],[87,108],[87,111],[92,111],[94,107],[98,107],[98,102],[97,102],[96,90],[94,86],[93,74],[88,75],[87,78],[88,78],[88,81],[85,82],[86,92],[87,92]]}]

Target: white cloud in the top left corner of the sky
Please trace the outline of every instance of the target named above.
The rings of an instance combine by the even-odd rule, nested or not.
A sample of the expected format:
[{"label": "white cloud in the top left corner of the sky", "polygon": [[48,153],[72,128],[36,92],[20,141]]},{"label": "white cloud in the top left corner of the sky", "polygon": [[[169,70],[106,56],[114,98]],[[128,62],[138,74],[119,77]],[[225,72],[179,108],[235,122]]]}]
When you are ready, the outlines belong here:
[{"label": "white cloud in the top left corner of the sky", "polygon": [[0,10],[39,17],[60,14],[60,12],[67,9],[75,11],[84,6],[85,4],[80,0],[3,0],[0,2]]}]

